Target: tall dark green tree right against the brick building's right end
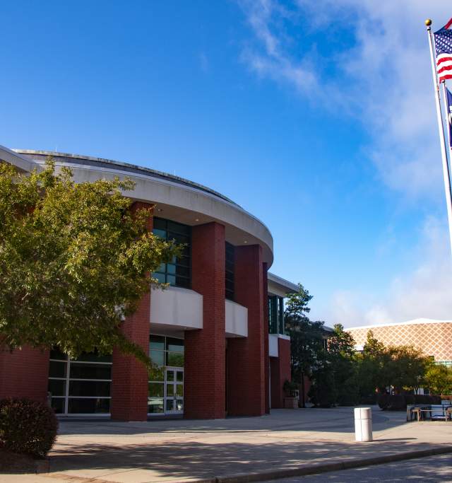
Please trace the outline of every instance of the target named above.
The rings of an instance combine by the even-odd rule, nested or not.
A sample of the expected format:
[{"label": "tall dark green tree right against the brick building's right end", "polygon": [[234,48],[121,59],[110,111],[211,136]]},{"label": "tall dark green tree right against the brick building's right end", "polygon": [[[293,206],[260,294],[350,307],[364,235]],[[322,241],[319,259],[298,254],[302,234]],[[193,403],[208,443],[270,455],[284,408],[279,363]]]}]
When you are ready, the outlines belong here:
[{"label": "tall dark green tree right against the brick building's right end", "polygon": [[323,347],[323,322],[311,322],[307,313],[312,296],[298,285],[296,293],[287,295],[285,309],[285,329],[290,335],[290,357],[292,368],[292,380],[302,385],[302,407],[304,400],[304,376],[311,375],[311,367],[317,358],[317,354]]}]

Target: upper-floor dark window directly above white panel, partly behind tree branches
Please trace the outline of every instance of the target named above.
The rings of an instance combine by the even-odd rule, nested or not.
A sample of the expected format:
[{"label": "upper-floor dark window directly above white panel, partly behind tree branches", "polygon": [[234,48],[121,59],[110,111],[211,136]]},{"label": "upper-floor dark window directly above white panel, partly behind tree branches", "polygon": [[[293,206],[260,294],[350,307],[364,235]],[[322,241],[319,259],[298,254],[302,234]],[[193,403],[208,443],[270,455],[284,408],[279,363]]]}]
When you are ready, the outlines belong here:
[{"label": "upper-floor dark window directly above white panel, partly behind tree branches", "polygon": [[154,217],[153,233],[163,240],[174,240],[185,245],[182,255],[179,258],[174,257],[171,263],[161,264],[157,272],[153,273],[153,277],[162,284],[190,288],[191,226]]}]

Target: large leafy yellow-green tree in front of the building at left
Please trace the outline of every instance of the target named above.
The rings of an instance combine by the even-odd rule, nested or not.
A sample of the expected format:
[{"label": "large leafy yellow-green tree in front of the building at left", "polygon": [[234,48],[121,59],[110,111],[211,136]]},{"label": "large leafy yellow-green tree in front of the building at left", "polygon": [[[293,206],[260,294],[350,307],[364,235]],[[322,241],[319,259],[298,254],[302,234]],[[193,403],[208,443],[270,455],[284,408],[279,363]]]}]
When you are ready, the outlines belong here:
[{"label": "large leafy yellow-green tree in front of the building at left", "polygon": [[1,344],[71,357],[118,347],[150,365],[121,321],[179,249],[148,232],[148,209],[124,197],[133,187],[127,178],[76,184],[52,159],[29,175],[0,164]]}]

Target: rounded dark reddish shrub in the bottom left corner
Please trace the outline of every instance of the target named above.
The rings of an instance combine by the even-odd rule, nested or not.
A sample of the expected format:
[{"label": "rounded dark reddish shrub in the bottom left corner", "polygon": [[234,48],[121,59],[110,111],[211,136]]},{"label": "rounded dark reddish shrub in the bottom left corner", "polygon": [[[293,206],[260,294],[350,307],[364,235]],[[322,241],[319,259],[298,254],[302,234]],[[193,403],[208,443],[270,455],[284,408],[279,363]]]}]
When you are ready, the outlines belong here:
[{"label": "rounded dark reddish shrub in the bottom left corner", "polygon": [[53,410],[38,401],[0,400],[0,443],[13,453],[44,458],[57,437]]}]

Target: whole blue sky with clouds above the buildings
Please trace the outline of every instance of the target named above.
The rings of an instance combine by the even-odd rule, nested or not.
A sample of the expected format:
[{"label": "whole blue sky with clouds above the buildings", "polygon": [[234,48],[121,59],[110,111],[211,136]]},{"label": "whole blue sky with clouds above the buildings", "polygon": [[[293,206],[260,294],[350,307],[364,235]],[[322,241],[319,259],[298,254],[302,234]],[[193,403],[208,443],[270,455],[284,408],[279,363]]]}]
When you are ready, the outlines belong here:
[{"label": "whole blue sky with clouds above the buildings", "polygon": [[423,21],[446,1],[2,2],[0,144],[176,173],[270,228],[329,325],[450,318]]}]

